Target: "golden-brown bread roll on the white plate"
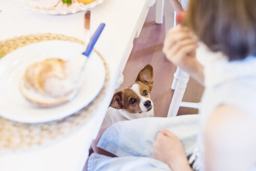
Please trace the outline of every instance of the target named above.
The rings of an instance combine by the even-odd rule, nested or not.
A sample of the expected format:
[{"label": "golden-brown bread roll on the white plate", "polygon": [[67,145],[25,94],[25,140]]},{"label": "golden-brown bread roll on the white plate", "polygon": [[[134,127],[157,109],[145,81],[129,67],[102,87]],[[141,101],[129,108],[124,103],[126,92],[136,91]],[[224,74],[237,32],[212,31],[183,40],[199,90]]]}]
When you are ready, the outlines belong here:
[{"label": "golden-brown bread roll on the white plate", "polygon": [[20,81],[21,94],[39,106],[71,100],[78,91],[79,70],[63,59],[51,58],[29,66]]}]

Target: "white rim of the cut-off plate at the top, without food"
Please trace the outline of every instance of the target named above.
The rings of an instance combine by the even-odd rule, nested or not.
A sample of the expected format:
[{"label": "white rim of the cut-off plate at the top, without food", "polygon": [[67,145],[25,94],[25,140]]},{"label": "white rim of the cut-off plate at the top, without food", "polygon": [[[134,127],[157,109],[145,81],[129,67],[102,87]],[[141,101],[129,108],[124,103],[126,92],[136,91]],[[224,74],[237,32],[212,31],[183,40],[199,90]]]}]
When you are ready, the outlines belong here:
[{"label": "white rim of the cut-off plate at the top, without food", "polygon": [[[26,0],[23,0],[26,3]],[[74,14],[79,11],[86,11],[87,9],[94,8],[96,5],[99,5],[103,3],[105,0],[95,0],[94,2],[87,4],[87,5],[82,5],[80,7],[75,7],[75,8],[67,8],[67,9],[58,9],[58,10],[48,10],[48,9],[39,9],[35,7],[30,7],[28,5],[28,8],[36,13],[41,13],[41,14],[48,14],[48,15],[67,15],[67,14]],[[26,3],[27,4],[27,3]]]}]

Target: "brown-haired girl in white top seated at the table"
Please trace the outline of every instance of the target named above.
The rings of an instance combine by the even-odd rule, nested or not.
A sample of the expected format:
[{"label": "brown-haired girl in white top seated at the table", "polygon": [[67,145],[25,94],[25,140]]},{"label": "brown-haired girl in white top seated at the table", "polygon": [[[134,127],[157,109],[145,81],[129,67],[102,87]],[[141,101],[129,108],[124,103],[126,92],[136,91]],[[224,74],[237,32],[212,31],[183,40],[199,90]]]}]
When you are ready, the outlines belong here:
[{"label": "brown-haired girl in white top seated at the table", "polygon": [[[255,7],[255,0],[190,0],[163,52],[204,84],[201,115],[114,124],[97,146],[118,157],[92,154],[88,170],[256,170]],[[218,56],[206,66],[196,58],[198,41]]]}]

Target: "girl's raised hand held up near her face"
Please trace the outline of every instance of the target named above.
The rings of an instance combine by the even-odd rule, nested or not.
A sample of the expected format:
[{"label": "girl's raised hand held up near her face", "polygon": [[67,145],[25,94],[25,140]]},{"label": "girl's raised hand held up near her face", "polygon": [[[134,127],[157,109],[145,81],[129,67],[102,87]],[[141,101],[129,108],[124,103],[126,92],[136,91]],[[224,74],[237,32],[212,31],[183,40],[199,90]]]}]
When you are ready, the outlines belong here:
[{"label": "girl's raised hand held up near her face", "polygon": [[170,29],[164,41],[163,52],[166,58],[174,65],[179,66],[189,74],[197,71],[196,36],[188,28],[177,26]]}]

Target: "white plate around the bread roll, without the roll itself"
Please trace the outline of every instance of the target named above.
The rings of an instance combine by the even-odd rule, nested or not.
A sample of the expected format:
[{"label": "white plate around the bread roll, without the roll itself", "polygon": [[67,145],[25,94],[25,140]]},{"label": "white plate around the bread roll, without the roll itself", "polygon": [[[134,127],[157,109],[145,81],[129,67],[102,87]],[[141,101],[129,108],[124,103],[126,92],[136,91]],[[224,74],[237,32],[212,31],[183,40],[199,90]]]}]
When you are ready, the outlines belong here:
[{"label": "white plate around the bread roll, without the roll itself", "polygon": [[22,123],[41,123],[63,118],[88,105],[105,82],[105,67],[100,56],[92,52],[84,69],[84,82],[76,97],[65,104],[43,108],[29,103],[19,91],[19,81],[27,67],[46,58],[84,61],[84,46],[68,41],[45,41],[30,44],[0,59],[0,115]]}]

